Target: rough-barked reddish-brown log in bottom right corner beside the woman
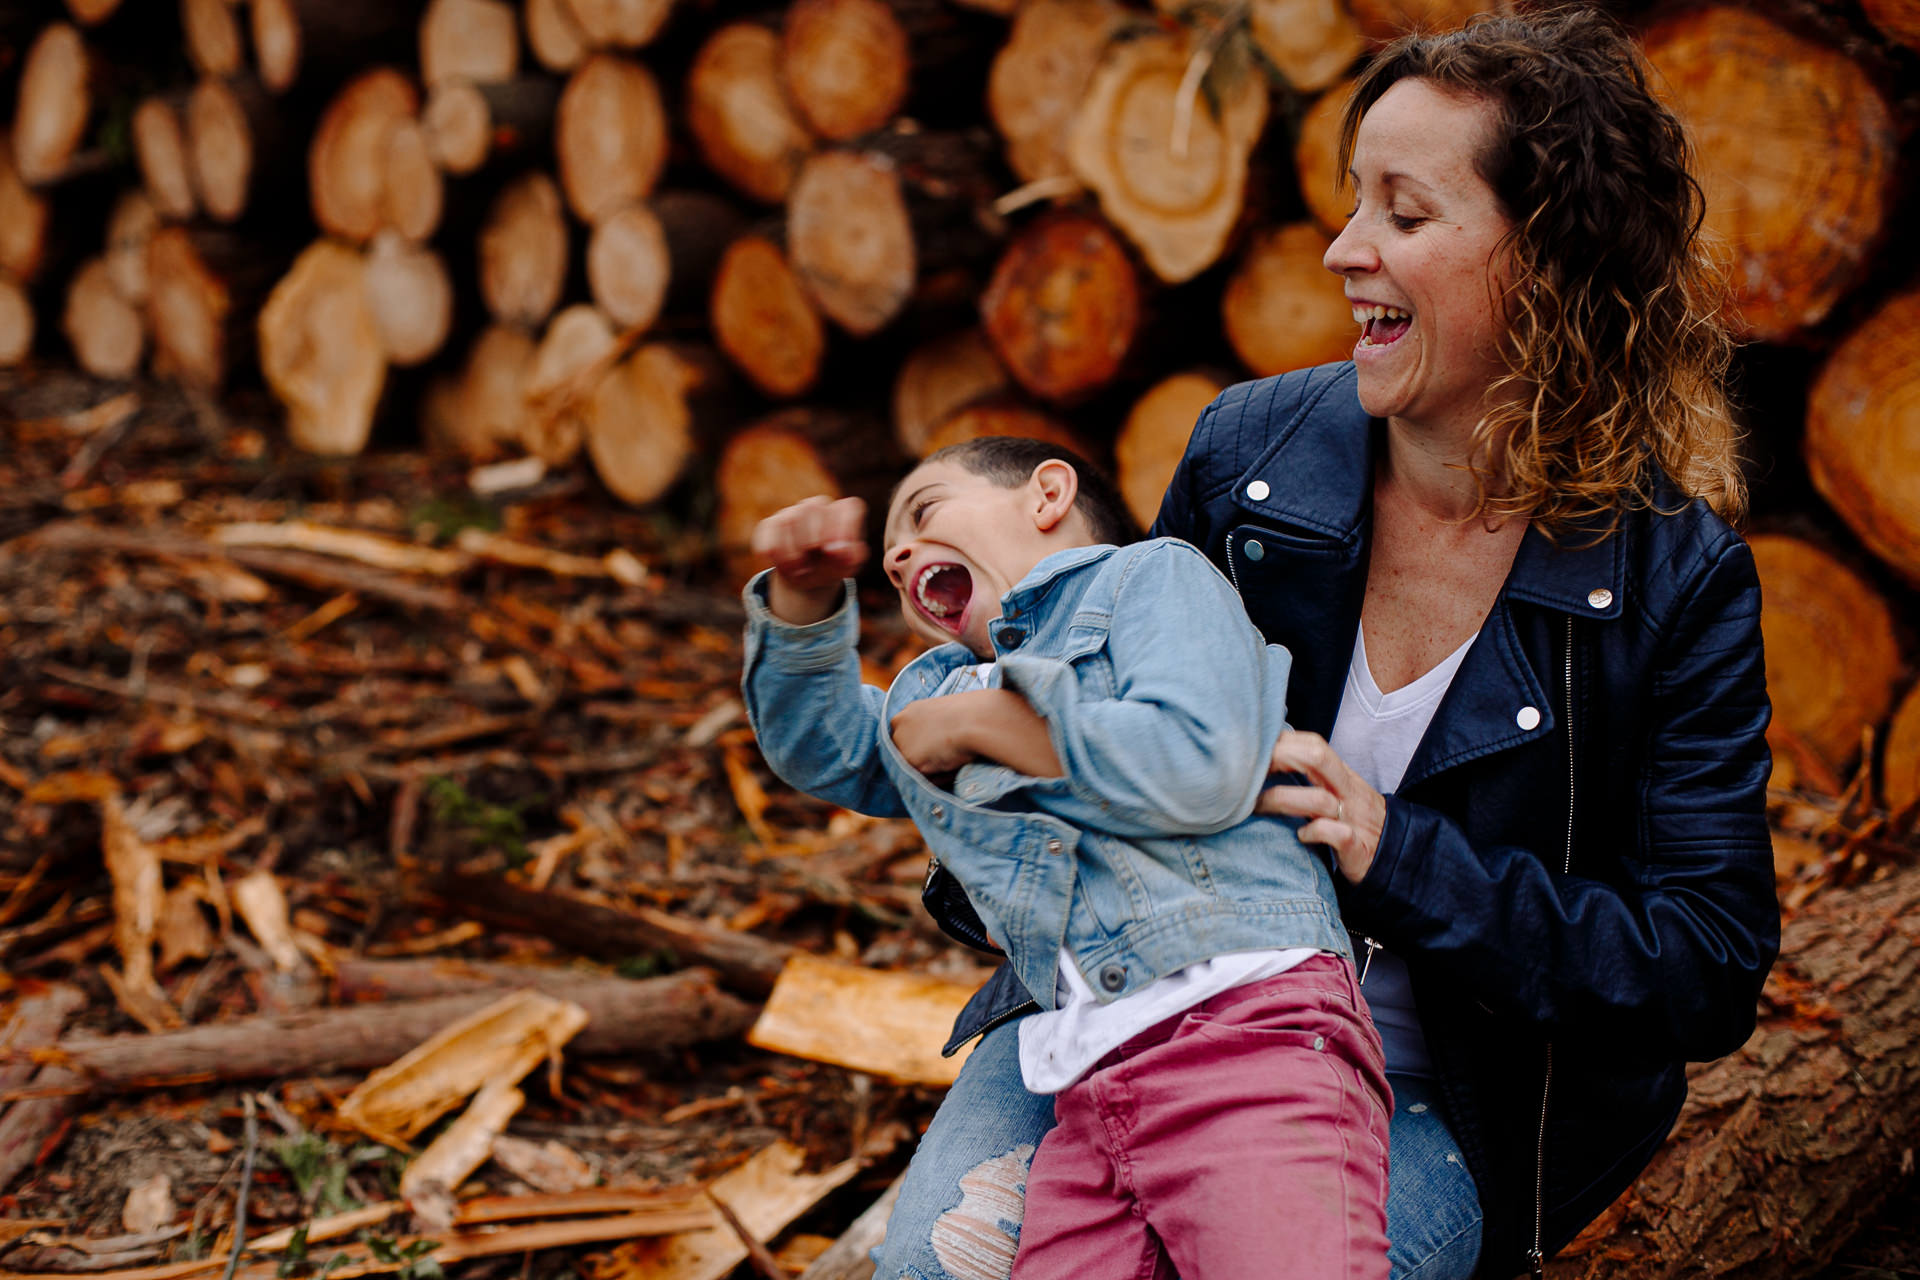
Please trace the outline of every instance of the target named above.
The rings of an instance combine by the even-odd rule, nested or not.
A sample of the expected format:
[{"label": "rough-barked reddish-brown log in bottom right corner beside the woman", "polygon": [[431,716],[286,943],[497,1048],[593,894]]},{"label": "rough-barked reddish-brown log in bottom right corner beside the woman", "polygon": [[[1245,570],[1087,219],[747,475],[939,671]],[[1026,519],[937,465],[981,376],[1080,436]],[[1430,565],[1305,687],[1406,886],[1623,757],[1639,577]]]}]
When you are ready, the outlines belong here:
[{"label": "rough-barked reddish-brown log in bottom right corner beside the woman", "polygon": [[1759,1031],[1690,1092],[1553,1280],[1788,1280],[1832,1261],[1920,1134],[1920,869],[1828,889],[1788,921]]}]

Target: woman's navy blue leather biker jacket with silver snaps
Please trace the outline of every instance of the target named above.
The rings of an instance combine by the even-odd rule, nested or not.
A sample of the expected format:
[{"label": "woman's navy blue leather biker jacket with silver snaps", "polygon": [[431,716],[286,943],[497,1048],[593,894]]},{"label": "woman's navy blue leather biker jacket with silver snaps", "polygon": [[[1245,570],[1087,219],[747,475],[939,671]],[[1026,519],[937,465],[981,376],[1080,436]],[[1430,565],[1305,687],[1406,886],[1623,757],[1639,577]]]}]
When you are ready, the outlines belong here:
[{"label": "woman's navy blue leather biker jacket with silver snaps", "polygon": [[[1229,388],[1154,524],[1286,645],[1290,718],[1317,733],[1359,626],[1379,432],[1352,365]],[[1701,503],[1657,497],[1670,514],[1630,512],[1594,545],[1526,533],[1373,867],[1342,885],[1348,927],[1407,960],[1488,1276],[1632,1184],[1684,1063],[1751,1034],[1780,946],[1753,557]],[[962,1023],[1018,998],[1000,979]]]}]

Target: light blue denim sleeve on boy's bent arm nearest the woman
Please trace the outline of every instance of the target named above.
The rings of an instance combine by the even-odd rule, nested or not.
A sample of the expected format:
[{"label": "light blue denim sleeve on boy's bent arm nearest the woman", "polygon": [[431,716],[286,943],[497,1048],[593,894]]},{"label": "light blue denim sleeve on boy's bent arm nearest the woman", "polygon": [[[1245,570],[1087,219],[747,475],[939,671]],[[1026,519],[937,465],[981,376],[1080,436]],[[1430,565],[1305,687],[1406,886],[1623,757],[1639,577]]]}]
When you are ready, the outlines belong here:
[{"label": "light blue denim sleeve on boy's bent arm nearest the woman", "polygon": [[[1087,700],[1071,664],[1020,652],[1000,677],[1044,718],[1066,781],[1035,802],[1121,837],[1208,835],[1246,819],[1284,722],[1284,652],[1187,543],[1142,549],[1116,595],[1114,697]],[[993,754],[993,752],[987,752]]]}]

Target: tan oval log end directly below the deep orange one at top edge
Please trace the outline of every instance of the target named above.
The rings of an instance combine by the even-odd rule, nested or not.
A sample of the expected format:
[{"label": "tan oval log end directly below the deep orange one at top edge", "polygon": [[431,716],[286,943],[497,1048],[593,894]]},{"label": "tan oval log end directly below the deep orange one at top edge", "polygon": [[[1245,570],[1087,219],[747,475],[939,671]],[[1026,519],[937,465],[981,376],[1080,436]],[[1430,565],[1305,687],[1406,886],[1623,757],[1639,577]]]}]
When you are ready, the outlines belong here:
[{"label": "tan oval log end directly below the deep orange one at top edge", "polygon": [[914,225],[893,163],[808,157],[787,196],[787,257],[820,311],[854,338],[879,332],[914,292]]}]

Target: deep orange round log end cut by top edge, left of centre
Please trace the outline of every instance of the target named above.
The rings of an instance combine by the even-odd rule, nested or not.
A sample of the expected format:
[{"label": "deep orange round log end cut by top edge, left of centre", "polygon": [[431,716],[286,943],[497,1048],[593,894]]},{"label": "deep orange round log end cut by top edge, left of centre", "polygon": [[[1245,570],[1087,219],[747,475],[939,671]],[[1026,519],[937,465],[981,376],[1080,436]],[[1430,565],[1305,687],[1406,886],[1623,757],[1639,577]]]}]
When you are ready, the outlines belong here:
[{"label": "deep orange round log end cut by top edge, left of centre", "polygon": [[906,100],[906,31],[885,0],[793,0],[780,54],[787,96],[829,142],[879,129]]}]

